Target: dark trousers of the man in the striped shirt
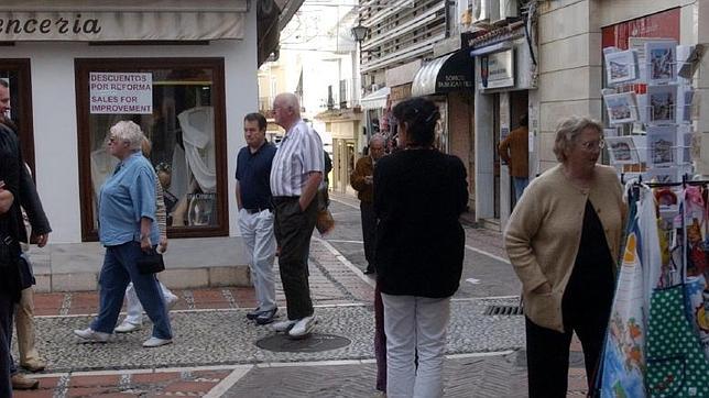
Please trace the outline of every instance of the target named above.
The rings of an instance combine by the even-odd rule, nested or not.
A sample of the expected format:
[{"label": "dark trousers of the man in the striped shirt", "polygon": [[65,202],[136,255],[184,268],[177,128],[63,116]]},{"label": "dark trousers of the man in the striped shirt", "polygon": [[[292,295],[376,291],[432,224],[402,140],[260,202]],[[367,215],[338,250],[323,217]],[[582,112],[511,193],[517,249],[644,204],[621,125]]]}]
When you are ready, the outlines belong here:
[{"label": "dark trousers of the man in the striped shirt", "polygon": [[301,211],[298,198],[275,200],[275,240],[281,248],[279,269],[288,308],[288,319],[297,320],[313,314],[308,283],[308,253],[317,215],[317,198]]}]

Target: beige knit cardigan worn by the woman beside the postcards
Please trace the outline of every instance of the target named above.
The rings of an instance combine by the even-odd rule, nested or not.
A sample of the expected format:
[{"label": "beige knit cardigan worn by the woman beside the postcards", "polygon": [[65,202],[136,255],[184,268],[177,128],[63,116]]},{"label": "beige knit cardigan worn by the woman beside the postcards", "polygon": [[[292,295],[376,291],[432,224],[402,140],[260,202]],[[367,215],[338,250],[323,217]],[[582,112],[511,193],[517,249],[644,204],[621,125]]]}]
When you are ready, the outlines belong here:
[{"label": "beige knit cardigan worn by the woman beside the postcards", "polygon": [[[541,327],[564,331],[561,298],[574,270],[589,199],[617,262],[626,207],[612,167],[597,165],[591,187],[581,189],[557,165],[532,181],[510,217],[505,247],[522,281],[525,316]],[[533,291],[545,281],[552,285],[550,294]]]}]

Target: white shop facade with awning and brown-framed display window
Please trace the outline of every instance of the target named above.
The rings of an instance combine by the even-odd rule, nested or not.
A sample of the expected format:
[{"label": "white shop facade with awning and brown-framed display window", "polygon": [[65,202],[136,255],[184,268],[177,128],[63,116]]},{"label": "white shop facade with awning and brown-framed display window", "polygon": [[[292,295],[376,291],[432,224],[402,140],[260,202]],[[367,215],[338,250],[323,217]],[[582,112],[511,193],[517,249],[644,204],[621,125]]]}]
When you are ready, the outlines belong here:
[{"label": "white shop facade with awning and brown-framed display window", "polygon": [[248,283],[232,192],[242,118],[258,110],[257,20],[247,0],[3,1],[0,78],[53,228],[35,270],[55,276],[40,289],[72,289],[58,274],[79,264],[100,268],[96,192],[119,120],[153,142],[168,267],[203,266],[190,286]]}]

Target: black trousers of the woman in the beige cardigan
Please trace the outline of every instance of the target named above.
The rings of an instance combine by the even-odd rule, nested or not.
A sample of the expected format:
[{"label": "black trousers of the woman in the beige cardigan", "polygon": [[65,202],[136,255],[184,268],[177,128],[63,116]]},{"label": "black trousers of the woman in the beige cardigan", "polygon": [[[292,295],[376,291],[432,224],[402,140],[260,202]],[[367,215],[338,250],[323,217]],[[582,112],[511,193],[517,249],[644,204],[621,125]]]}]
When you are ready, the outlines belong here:
[{"label": "black trousers of the woman in the beige cardigan", "polygon": [[[604,290],[604,289],[603,289]],[[589,391],[603,347],[613,291],[592,297],[565,295],[561,303],[564,333],[543,328],[525,317],[530,398],[565,398],[568,389],[569,347],[572,332],[583,349]]]}]

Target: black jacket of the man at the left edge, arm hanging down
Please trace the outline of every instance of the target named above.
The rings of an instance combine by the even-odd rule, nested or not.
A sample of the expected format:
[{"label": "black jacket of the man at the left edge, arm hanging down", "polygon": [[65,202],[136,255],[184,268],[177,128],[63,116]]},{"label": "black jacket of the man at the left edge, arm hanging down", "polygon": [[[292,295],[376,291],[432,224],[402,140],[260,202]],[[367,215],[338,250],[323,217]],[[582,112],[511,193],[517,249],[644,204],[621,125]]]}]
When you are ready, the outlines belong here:
[{"label": "black jacket of the man at the left edge, arm hanging down", "polygon": [[[24,208],[24,211],[28,213],[30,219],[30,224],[32,230],[37,234],[46,234],[52,232],[50,226],[50,220],[47,220],[44,209],[42,208],[42,201],[37,195],[36,186],[34,180],[24,167],[24,159],[22,158],[22,151],[20,150],[20,141],[18,140],[18,134],[14,129],[9,125],[0,122],[0,150],[7,151],[11,155],[15,156],[20,162],[20,196],[19,200],[15,196],[15,202],[19,202],[20,206]],[[30,236],[26,236],[24,228],[20,229],[20,240],[22,242],[30,242]]]}]

